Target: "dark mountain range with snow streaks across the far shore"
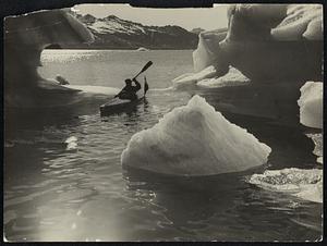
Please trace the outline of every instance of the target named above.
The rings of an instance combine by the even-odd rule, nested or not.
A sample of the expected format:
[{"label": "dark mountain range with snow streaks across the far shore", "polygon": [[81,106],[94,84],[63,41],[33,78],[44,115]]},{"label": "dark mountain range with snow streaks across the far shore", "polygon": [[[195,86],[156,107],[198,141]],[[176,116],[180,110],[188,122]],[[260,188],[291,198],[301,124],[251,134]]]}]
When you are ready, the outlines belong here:
[{"label": "dark mountain range with snow streaks across the far shore", "polygon": [[195,49],[198,37],[180,26],[146,26],[109,15],[97,19],[90,14],[81,15],[71,12],[95,36],[95,41],[83,47],[90,49]]}]

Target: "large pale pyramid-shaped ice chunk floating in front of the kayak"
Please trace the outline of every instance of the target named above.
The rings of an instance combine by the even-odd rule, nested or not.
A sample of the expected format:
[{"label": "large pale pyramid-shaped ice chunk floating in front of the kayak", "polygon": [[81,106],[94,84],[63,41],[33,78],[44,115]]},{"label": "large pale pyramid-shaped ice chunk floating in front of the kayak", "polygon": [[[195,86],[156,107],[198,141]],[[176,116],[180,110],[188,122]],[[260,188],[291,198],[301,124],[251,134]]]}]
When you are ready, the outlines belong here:
[{"label": "large pale pyramid-shaped ice chunk floating in front of the kayak", "polygon": [[267,162],[271,149],[194,96],[154,127],[132,136],[121,155],[124,168],[171,175],[241,172]]}]

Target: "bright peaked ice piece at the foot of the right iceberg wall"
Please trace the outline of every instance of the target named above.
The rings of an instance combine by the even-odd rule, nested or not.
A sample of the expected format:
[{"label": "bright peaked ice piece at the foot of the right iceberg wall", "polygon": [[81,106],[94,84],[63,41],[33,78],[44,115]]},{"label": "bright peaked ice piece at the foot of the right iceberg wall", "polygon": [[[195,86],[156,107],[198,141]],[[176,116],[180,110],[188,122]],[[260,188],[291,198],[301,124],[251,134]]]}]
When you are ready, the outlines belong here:
[{"label": "bright peaked ice piece at the foot of the right iceberg wall", "polygon": [[207,78],[199,81],[197,83],[201,87],[223,87],[223,86],[234,86],[234,85],[246,85],[250,79],[245,77],[239,70],[230,67],[229,72],[218,78]]}]

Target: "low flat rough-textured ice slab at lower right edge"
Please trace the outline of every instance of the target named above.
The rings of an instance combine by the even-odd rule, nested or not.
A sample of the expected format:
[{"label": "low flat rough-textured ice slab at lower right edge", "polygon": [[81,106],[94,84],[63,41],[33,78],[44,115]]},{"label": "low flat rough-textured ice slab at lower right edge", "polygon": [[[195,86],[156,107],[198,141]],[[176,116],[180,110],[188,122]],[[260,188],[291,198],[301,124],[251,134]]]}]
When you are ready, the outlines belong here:
[{"label": "low flat rough-textured ice slab at lower right edge", "polygon": [[323,202],[323,170],[319,169],[267,170],[263,174],[253,174],[249,183],[265,189]]}]

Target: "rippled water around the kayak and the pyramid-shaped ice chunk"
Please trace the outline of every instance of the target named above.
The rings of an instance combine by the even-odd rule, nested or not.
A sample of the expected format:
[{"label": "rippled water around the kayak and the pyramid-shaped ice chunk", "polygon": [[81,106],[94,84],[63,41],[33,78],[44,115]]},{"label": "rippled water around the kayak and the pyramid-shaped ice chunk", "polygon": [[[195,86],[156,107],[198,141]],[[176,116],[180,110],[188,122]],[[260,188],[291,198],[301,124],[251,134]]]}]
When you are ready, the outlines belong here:
[{"label": "rippled water around the kayak and the pyramid-shaped ice chunk", "polygon": [[[219,95],[227,97],[225,90],[165,89],[171,86],[172,78],[192,72],[191,51],[49,50],[43,53],[44,66],[39,72],[44,77],[60,73],[76,85],[121,87],[122,79],[133,76],[148,60],[154,61],[147,72],[152,90],[147,103],[132,112],[101,118],[97,101],[80,106],[85,109],[83,113],[70,109],[64,113],[44,111],[19,116],[12,126],[14,131],[7,134],[4,149],[7,238],[320,238],[320,204],[253,186],[246,183],[251,173],[181,179],[122,170],[120,153],[130,137],[152,127],[172,108],[185,104],[193,94],[206,97],[216,108],[226,106],[218,99]],[[243,107],[249,104],[247,111],[245,107],[244,115],[227,116],[272,148],[264,168],[316,167],[313,144],[301,127],[275,124],[277,110],[270,102],[245,103],[244,98],[237,99]],[[267,118],[245,115],[253,104],[257,107],[254,115],[266,112]],[[70,136],[77,138],[75,150],[66,150],[64,140]]]}]

